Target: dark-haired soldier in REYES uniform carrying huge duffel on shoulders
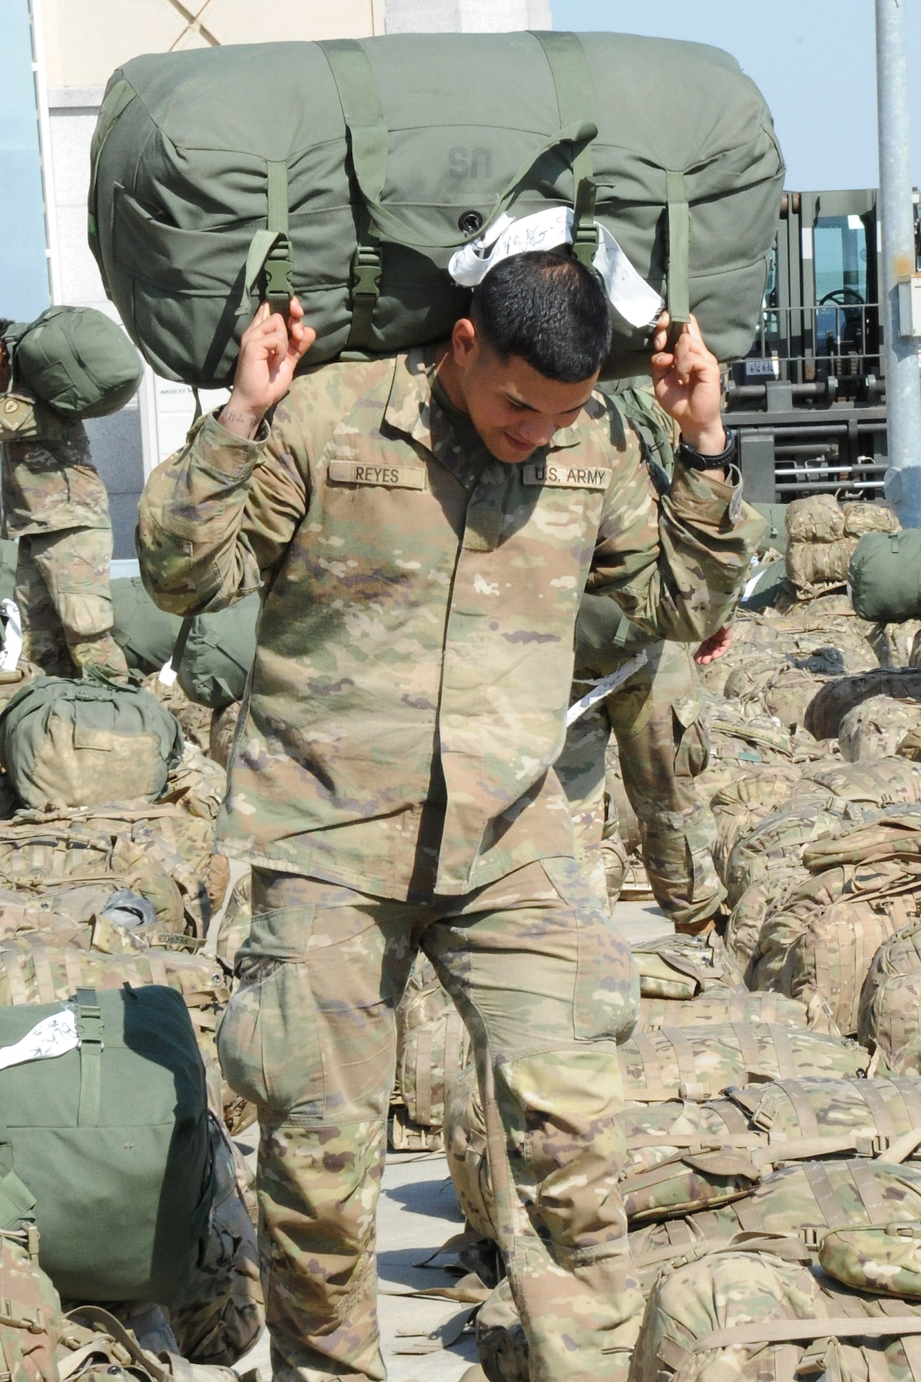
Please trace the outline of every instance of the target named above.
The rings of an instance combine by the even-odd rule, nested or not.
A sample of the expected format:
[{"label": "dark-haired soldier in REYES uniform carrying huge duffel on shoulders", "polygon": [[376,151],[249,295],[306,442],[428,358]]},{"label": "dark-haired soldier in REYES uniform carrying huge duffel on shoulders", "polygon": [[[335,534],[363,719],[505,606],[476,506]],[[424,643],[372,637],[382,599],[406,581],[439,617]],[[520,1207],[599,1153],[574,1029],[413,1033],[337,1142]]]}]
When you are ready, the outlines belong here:
[{"label": "dark-haired soldier in REYES uniform carrying huge duffel on shoulders", "polygon": [[[626,1376],[614,1050],[637,991],[552,771],[576,614],[591,575],[653,636],[700,640],[761,522],[706,459],[659,503],[592,391],[609,332],[598,281],[543,253],[493,268],[442,347],[293,383],[313,333],[297,301],[287,323],[262,307],[220,419],[141,500],[163,608],[264,590],[220,826],[254,865],[253,931],[220,1049],[260,1107],[278,1382],[384,1375],[374,1211],[418,948],[474,1041],[532,1378]],[[722,452],[699,332],[656,344],[685,437]]]}]

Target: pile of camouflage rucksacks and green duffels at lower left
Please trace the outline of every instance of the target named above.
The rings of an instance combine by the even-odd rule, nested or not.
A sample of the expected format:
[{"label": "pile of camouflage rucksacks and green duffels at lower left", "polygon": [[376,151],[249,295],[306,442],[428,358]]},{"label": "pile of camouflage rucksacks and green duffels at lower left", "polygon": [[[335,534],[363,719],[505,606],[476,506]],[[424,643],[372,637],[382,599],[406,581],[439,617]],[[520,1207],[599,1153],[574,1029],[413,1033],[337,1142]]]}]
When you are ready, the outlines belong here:
[{"label": "pile of camouflage rucksacks and green duffels at lower left", "polygon": [[211,717],[156,677],[25,666],[0,688],[0,1350],[17,1376],[233,1382],[265,1323],[235,1142],[255,1110],[215,1049],[249,878],[215,853]]}]

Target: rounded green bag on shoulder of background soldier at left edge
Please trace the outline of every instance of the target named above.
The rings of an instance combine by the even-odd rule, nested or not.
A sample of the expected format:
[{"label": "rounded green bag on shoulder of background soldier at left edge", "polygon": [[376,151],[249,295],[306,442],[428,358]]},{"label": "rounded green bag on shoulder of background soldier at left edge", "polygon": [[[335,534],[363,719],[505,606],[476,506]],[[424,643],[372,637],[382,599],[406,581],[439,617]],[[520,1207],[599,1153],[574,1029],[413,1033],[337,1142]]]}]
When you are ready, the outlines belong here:
[{"label": "rounded green bag on shoulder of background soldier at left edge", "polygon": [[26,384],[70,420],[117,413],[141,384],[138,352],[95,307],[48,307],[35,322],[14,322],[1,340],[12,387]]}]

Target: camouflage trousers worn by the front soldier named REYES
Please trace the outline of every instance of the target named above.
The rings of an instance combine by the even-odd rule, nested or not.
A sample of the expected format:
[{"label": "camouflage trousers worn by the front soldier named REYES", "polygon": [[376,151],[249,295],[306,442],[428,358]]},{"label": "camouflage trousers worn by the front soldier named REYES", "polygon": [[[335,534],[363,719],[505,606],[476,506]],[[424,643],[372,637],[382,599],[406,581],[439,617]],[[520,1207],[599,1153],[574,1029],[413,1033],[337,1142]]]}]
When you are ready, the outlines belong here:
[{"label": "camouflage trousers worn by the front soldier named REYES", "polygon": [[533,1382],[621,1382],[642,1314],[617,1173],[617,1039],[637,980],[572,858],[467,897],[371,897],[253,871],[218,1035],[260,1106],[260,1251],[275,1382],[382,1379],[374,1218],[417,949],[471,1032],[497,1230]]}]

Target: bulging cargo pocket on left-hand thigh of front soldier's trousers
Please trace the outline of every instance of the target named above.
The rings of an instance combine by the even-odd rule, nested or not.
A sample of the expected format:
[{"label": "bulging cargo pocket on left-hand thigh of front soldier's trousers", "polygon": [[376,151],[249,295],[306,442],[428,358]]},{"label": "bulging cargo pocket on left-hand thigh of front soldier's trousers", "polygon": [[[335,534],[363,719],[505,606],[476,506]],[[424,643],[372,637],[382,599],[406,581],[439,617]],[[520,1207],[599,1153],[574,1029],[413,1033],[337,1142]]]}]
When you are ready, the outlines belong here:
[{"label": "bulging cargo pocket on left-hand thigh of front soldier's trousers", "polygon": [[305,959],[311,920],[305,907],[279,907],[253,919],[239,956],[240,987],[217,1043],[235,1093],[273,1113],[322,1118],[326,1082]]}]

